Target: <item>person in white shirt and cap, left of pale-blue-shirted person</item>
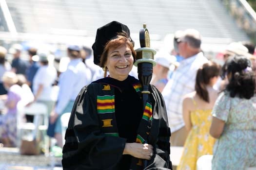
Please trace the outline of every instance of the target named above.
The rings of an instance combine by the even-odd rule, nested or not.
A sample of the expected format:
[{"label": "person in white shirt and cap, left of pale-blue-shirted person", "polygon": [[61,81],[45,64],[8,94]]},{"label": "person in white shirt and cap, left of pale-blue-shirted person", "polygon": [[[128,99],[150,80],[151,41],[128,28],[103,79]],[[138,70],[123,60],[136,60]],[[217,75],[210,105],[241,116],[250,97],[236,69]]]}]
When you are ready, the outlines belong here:
[{"label": "person in white shirt and cap, left of pale-blue-shirted person", "polygon": [[42,102],[47,106],[50,115],[55,100],[53,97],[53,84],[57,79],[57,70],[53,65],[49,65],[48,55],[41,52],[34,55],[32,60],[39,61],[40,67],[33,79],[34,102]]}]

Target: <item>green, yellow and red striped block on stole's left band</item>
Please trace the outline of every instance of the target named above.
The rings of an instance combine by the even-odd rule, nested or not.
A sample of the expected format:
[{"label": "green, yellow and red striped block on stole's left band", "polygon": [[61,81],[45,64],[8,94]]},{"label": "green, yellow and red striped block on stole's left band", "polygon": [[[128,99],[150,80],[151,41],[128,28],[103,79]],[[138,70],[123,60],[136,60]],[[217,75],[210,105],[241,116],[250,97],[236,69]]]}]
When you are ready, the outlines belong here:
[{"label": "green, yellow and red striped block on stole's left band", "polygon": [[115,95],[97,96],[97,110],[99,114],[115,112]]}]

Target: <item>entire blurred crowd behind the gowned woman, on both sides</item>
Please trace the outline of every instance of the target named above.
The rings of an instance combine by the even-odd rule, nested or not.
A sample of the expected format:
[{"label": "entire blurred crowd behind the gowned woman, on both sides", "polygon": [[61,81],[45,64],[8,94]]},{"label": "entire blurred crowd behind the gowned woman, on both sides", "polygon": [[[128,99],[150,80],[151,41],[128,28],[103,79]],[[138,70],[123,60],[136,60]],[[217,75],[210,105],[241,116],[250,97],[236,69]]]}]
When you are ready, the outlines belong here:
[{"label": "entire blurred crowd behind the gowned woman, on both sides", "polygon": [[[24,51],[20,44],[8,51],[0,47],[3,146],[16,146],[17,104],[41,102],[48,110],[47,135],[62,147],[60,116],[71,112],[84,85],[104,75],[93,63],[91,48],[70,45],[66,51],[67,56],[57,60],[50,50]],[[23,52],[28,61],[21,59]],[[7,53],[12,54],[11,62]],[[256,166],[255,45],[232,42],[221,57],[221,65],[208,60],[201,50],[201,35],[194,29],[177,31],[174,49],[155,56],[151,84],[165,100],[171,146],[184,147],[178,170],[196,170],[197,159],[206,154],[213,155],[213,167],[223,170]],[[130,75],[138,78],[136,67]],[[33,118],[27,116],[26,121]]]}]

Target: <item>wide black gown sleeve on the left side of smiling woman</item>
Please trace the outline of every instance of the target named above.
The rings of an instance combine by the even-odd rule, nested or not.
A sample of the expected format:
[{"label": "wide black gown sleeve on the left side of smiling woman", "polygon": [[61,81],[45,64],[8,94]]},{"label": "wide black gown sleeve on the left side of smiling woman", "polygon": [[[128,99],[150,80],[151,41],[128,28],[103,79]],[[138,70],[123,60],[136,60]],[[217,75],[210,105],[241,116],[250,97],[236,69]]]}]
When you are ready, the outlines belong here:
[{"label": "wide black gown sleeve on the left side of smiling woman", "polygon": [[98,84],[82,88],[69,120],[63,147],[63,170],[118,170],[126,139],[100,131]]}]

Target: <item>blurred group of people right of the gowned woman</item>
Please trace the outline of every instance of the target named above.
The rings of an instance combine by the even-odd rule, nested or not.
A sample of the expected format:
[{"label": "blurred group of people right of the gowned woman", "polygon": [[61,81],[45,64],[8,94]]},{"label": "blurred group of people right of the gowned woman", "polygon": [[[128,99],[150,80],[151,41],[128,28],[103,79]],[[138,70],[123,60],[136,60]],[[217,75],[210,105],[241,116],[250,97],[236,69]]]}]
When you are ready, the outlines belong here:
[{"label": "blurred group of people right of the gowned woman", "polygon": [[166,103],[171,146],[184,148],[177,170],[198,169],[203,155],[212,155],[213,170],[256,167],[255,45],[230,43],[220,65],[204,55],[199,32],[188,29],[176,32],[172,55],[156,56],[154,74],[164,77],[153,84]]}]

